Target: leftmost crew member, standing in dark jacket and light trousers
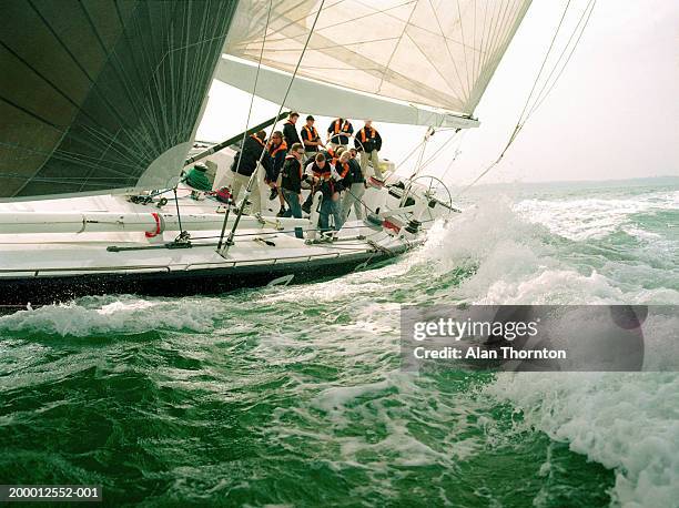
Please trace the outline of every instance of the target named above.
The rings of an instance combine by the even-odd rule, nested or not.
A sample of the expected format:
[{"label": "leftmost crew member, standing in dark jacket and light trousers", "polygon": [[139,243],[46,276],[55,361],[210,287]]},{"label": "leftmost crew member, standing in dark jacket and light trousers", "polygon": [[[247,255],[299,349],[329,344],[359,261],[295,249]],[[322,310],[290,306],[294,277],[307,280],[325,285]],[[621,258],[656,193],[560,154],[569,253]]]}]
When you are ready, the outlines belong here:
[{"label": "leftmost crew member, standing in dark jacket and light trousers", "polygon": [[[264,151],[265,138],[266,134],[264,133],[264,131],[259,131],[255,134],[251,134],[250,136],[245,138],[245,142],[243,143],[243,148],[241,149],[241,151],[235,154],[233,164],[231,165],[231,171],[233,173],[232,194],[234,201],[239,199],[239,193],[241,192],[242,187],[247,189],[247,182],[250,181],[250,176],[252,176],[255,171],[259,172],[260,161],[262,162],[262,165],[267,172],[271,171],[272,161],[268,154]],[[262,180],[262,177],[257,175],[255,177],[254,185],[252,186],[251,213],[257,213],[262,211],[260,180]]]}]

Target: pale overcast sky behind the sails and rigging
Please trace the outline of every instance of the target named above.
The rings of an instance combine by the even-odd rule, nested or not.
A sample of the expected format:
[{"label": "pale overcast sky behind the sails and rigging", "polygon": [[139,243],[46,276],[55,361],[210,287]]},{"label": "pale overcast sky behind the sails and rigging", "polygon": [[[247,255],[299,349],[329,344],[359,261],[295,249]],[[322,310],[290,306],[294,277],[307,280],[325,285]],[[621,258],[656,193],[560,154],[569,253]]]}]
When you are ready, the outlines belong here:
[{"label": "pale overcast sky behind the sails and rigging", "polygon": [[[585,3],[571,0],[568,27]],[[447,182],[464,184],[497,158],[565,4],[534,0],[475,112],[482,126],[452,142],[423,173],[440,176],[447,171]],[[249,104],[247,93],[215,82],[197,139],[221,141],[241,132]],[[276,105],[256,100],[250,124],[276,111]],[[325,131],[331,119],[316,118]],[[384,138],[381,156],[397,163],[424,134],[424,128],[376,126]],[[437,133],[427,153],[449,135]],[[450,164],[458,145],[460,154]],[[402,171],[408,174],[411,169],[404,164]],[[598,0],[558,84],[483,183],[659,175],[679,175],[679,1]]]}]

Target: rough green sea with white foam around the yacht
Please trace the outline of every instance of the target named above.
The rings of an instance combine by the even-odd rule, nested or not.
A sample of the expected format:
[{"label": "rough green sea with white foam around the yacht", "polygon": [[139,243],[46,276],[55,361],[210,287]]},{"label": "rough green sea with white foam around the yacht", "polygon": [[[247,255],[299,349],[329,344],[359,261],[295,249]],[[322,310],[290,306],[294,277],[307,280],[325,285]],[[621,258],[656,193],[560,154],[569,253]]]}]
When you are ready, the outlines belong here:
[{"label": "rough green sea with white foam around the yacht", "polygon": [[107,506],[679,506],[679,374],[416,375],[398,355],[402,304],[679,305],[679,182],[464,206],[336,280],[1,316],[0,484],[102,485]]}]

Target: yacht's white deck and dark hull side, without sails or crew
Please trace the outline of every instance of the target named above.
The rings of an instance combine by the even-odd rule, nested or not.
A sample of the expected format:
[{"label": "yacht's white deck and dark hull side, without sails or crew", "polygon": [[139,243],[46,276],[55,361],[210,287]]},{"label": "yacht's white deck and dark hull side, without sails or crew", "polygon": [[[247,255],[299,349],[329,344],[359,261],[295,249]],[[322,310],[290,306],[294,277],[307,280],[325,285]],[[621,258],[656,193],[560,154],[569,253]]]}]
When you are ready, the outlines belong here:
[{"label": "yacht's white deck and dark hull side, without sails or crew", "polygon": [[[308,244],[296,238],[293,228],[302,226],[306,236],[313,236],[311,222],[277,220],[277,201],[263,196],[262,203],[273,210],[263,212],[263,221],[244,216],[234,245],[217,252],[224,206],[213,199],[195,201],[190,194],[190,189],[180,187],[182,226],[192,235],[190,248],[174,244],[180,228],[171,193],[161,207],[114,195],[0,204],[0,305],[45,304],[101,293],[219,293],[302,282],[365,267],[424,238],[424,232],[396,232],[356,221],[352,214],[335,241]],[[388,215],[384,211],[389,199],[392,206],[398,205],[386,190],[371,189],[364,196],[372,210],[381,209],[379,215]],[[407,216],[394,215],[392,221],[405,225]],[[226,232],[233,219],[232,213]]]}]

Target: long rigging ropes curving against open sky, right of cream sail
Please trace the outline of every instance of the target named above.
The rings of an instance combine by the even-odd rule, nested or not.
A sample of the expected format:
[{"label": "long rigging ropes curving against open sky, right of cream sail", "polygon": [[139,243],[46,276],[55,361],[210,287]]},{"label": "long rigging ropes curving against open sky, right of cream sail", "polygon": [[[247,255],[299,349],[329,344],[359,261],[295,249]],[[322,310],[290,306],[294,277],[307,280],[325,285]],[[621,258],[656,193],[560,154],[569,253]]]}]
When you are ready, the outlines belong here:
[{"label": "long rigging ropes curving against open sky, right of cream sail", "polygon": [[[547,77],[547,79],[543,83],[541,88],[539,89],[539,92],[537,94],[535,94],[536,88],[537,88],[537,85],[538,85],[538,83],[540,81],[540,78],[543,75],[543,71],[545,70],[545,67],[547,64],[547,61],[549,60],[549,57],[550,57],[551,51],[554,49],[555,42],[557,40],[557,37],[558,37],[558,34],[559,34],[559,32],[561,30],[561,27],[564,24],[564,20],[566,19],[566,14],[567,14],[568,9],[570,7],[570,2],[571,2],[571,0],[568,0],[567,3],[566,3],[566,7],[564,8],[564,13],[561,14],[561,19],[559,20],[559,24],[557,26],[557,29],[556,29],[556,31],[554,33],[554,37],[551,38],[551,42],[549,43],[549,48],[547,49],[547,53],[545,54],[545,58],[544,58],[543,63],[540,65],[540,69],[538,71],[538,73],[537,73],[537,75],[535,78],[535,81],[533,83],[533,87],[530,89],[530,93],[528,94],[528,98],[526,99],[526,103],[524,104],[524,109],[521,110],[521,113],[519,114],[517,123],[516,123],[516,125],[514,128],[514,131],[511,132],[511,134],[509,136],[509,140],[507,141],[507,144],[505,145],[505,148],[500,152],[499,156],[493,163],[490,163],[490,165],[488,165],[484,171],[482,171],[479,173],[479,175],[476,176],[476,179],[474,179],[474,181],[470,184],[468,184],[462,191],[459,191],[455,195],[455,197],[460,196],[462,194],[467,192],[469,189],[472,189],[480,179],[483,179],[496,165],[498,165],[500,163],[500,161],[505,156],[505,153],[507,153],[507,150],[509,150],[509,146],[511,146],[511,144],[516,140],[518,133],[521,131],[521,129],[524,129],[524,125],[526,124],[528,119],[533,115],[533,113],[535,113],[535,111],[539,108],[539,105],[545,101],[547,95],[551,92],[551,90],[556,85],[558,79],[560,78],[561,73],[564,72],[564,69],[566,69],[566,65],[570,61],[570,57],[572,57],[572,53],[575,52],[575,49],[577,48],[578,43],[580,42],[582,33],[585,32],[585,29],[587,28],[587,23],[589,22],[589,18],[591,17],[591,12],[594,11],[594,8],[596,6],[597,0],[589,0],[589,3],[587,3],[585,10],[582,11],[582,14],[580,16],[580,19],[578,20],[578,23],[576,24],[572,33],[568,38],[568,42],[566,43],[564,50],[561,51],[561,53],[557,58],[556,62],[554,63],[553,69],[549,72],[549,75]],[[580,28],[580,26],[581,26],[581,28]],[[554,72],[556,71],[556,69],[559,65],[561,65],[561,61],[564,60],[564,55],[566,54],[566,50],[568,49],[568,45],[570,44],[570,41],[572,40],[574,35],[578,32],[578,30],[579,30],[579,34],[576,38],[576,41],[575,41],[575,43],[574,43],[574,45],[572,45],[568,57],[564,61],[561,70],[558,72],[556,79],[551,82],[551,84],[547,89],[547,87],[549,84],[549,79],[551,78],[551,75],[554,75]],[[535,99],[535,102],[533,103],[533,105],[530,105],[530,100],[534,98],[534,94],[535,94],[536,99]]]}]

